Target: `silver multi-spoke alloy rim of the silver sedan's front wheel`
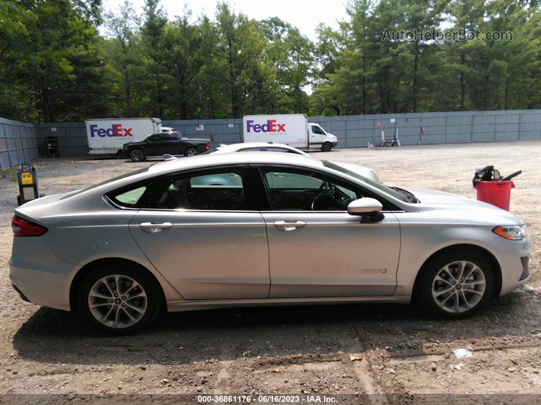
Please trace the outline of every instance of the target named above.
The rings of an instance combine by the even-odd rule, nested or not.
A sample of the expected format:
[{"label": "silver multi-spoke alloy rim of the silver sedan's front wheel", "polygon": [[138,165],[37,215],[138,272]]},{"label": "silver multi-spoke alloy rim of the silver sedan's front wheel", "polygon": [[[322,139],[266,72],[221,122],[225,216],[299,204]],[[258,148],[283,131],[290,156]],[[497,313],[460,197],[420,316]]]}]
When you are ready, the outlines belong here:
[{"label": "silver multi-spoke alloy rim of the silver sedan's front wheel", "polygon": [[477,264],[456,261],[438,271],[432,281],[432,297],[438,307],[457,314],[475,307],[485,288],[485,274]]}]

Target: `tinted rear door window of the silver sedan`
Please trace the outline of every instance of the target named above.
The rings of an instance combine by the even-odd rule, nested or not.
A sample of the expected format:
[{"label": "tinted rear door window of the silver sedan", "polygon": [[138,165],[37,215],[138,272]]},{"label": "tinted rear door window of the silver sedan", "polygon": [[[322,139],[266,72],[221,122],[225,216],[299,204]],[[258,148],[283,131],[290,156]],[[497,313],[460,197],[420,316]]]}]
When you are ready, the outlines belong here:
[{"label": "tinted rear door window of the silver sedan", "polygon": [[217,169],[166,177],[152,207],[157,209],[245,210],[240,169]]}]

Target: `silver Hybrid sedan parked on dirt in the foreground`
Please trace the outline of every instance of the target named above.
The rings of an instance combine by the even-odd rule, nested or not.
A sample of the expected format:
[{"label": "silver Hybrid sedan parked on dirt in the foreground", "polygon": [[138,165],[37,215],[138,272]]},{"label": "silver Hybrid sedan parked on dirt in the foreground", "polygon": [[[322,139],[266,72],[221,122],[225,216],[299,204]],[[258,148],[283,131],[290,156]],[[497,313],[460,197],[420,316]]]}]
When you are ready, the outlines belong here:
[{"label": "silver Hybrid sedan parked on dirt in the foreground", "polygon": [[463,318],[529,277],[507,211],[283,153],[152,165],[15,210],[24,300],[127,334],[162,309],[395,302]]}]

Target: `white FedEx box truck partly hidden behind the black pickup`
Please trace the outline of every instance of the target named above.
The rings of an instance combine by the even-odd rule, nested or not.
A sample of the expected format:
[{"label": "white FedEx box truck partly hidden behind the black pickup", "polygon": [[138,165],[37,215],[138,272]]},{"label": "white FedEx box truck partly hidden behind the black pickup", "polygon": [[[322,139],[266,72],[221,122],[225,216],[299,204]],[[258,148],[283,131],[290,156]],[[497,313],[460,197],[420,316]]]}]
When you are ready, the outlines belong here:
[{"label": "white FedEx box truck partly hidden behind the black pickup", "polygon": [[87,119],[90,155],[117,154],[129,141],[142,141],[150,134],[170,131],[160,118],[94,118]]}]

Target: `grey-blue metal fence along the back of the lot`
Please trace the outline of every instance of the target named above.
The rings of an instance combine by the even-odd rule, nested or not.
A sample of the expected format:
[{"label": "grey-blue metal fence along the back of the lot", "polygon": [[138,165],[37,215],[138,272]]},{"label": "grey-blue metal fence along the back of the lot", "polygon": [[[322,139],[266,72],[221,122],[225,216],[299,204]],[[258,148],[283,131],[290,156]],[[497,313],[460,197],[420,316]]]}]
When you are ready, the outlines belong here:
[{"label": "grey-blue metal fence along the back of the lot", "polygon": [[[309,117],[308,121],[336,135],[340,148],[380,145],[381,132],[389,140],[398,135],[403,145],[541,138],[541,109]],[[163,125],[188,138],[212,137],[211,148],[242,142],[241,118],[164,120]],[[32,124],[0,118],[0,170],[47,156],[48,136],[56,136],[59,157],[88,153],[84,122]]]}]

